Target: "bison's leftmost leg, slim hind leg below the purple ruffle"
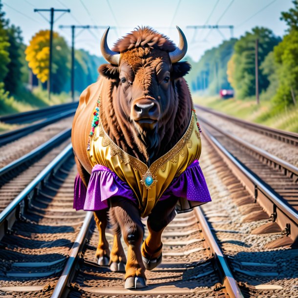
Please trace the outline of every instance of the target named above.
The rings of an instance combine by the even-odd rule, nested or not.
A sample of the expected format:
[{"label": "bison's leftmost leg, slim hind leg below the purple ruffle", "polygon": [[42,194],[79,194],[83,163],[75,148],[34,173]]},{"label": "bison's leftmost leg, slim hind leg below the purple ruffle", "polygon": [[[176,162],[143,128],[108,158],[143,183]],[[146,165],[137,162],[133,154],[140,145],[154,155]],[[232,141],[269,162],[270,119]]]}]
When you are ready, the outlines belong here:
[{"label": "bison's leftmost leg, slim hind leg below the purple ruffle", "polygon": [[109,264],[110,255],[108,242],[106,240],[107,211],[108,209],[103,209],[94,212],[94,218],[99,232],[99,241],[96,249],[96,259],[98,264],[101,266]]}]

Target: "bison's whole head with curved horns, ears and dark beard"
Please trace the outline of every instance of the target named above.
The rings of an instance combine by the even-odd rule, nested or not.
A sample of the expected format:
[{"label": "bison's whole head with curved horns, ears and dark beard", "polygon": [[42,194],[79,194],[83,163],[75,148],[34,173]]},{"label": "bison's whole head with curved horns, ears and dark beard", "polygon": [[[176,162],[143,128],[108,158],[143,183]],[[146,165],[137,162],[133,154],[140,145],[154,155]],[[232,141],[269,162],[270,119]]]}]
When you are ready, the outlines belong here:
[{"label": "bison's whole head with curved horns, ears and dark beard", "polygon": [[186,54],[187,42],[177,29],[178,47],[149,27],[132,31],[112,50],[106,42],[109,28],[102,38],[101,51],[110,64],[101,65],[99,72],[114,82],[115,111],[132,124],[147,148],[156,146],[157,132],[175,115],[175,81],[190,70],[190,64],[178,62]]}]

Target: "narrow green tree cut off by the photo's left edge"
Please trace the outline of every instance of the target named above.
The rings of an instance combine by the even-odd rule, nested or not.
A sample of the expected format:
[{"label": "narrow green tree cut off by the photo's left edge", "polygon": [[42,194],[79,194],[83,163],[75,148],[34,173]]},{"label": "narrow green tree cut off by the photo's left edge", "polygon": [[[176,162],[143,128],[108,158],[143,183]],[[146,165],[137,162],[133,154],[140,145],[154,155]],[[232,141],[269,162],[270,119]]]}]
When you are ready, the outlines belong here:
[{"label": "narrow green tree cut off by the photo's left edge", "polygon": [[5,13],[2,11],[2,3],[0,1],[0,82],[3,82],[3,79],[8,72],[7,64],[10,62],[8,53],[8,34],[5,29],[7,21],[4,19],[4,15]]}]

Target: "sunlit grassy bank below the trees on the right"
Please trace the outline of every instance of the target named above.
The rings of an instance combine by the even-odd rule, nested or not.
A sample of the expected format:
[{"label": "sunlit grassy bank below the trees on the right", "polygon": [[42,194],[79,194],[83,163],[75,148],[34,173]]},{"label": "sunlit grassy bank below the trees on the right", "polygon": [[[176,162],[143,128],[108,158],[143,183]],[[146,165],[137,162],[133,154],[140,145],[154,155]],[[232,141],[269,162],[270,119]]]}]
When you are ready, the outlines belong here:
[{"label": "sunlit grassy bank below the trees on the right", "polygon": [[218,96],[202,97],[196,94],[192,98],[194,104],[210,107],[243,120],[298,132],[298,106],[277,109],[269,101],[261,101],[258,106],[255,99],[221,99]]}]

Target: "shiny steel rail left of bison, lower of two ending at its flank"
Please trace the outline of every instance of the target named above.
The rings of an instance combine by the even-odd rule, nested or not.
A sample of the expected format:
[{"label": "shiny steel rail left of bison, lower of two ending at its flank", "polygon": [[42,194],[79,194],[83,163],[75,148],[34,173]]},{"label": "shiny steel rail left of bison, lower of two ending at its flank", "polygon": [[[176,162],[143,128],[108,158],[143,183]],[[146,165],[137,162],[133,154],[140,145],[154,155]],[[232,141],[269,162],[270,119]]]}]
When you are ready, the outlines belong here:
[{"label": "shiny steel rail left of bison, lower of two ending at its flank", "polygon": [[36,192],[36,188],[40,187],[41,183],[47,181],[51,173],[59,168],[71,154],[72,146],[69,144],[0,213],[0,240],[11,229],[16,218],[19,217],[20,210],[24,208],[25,199],[30,200]]}]

